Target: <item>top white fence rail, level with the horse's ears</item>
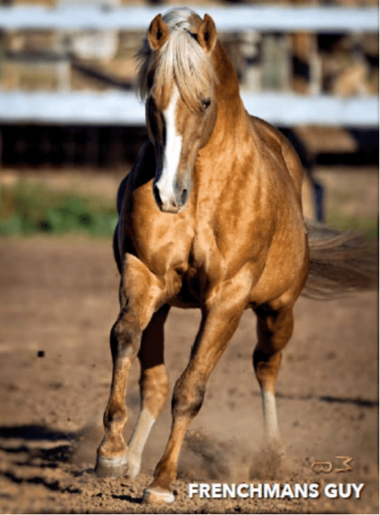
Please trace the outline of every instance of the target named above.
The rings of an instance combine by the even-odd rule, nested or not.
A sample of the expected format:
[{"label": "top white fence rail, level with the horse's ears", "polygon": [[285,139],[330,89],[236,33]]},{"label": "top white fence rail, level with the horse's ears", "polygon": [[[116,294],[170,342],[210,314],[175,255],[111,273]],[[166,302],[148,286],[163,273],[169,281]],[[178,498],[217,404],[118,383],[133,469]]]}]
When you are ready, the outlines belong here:
[{"label": "top white fence rail, level with the horse's ears", "polygon": [[[44,8],[15,6],[0,8],[0,29],[75,29],[75,30],[143,30],[158,14],[172,5],[158,7],[99,8],[72,6]],[[254,5],[252,7],[202,8],[208,12],[220,31],[233,32],[256,29],[261,32],[319,33],[378,32],[378,8],[342,7],[282,7]]]}]

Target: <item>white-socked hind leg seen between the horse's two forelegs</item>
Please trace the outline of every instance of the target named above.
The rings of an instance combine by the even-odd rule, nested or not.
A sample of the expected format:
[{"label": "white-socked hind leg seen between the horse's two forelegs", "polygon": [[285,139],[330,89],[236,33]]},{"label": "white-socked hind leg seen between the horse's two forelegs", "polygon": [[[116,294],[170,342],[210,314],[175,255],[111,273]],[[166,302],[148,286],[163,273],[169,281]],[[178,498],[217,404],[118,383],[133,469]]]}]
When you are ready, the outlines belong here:
[{"label": "white-socked hind leg seen between the horse's two forelegs", "polygon": [[128,476],[136,477],[141,468],[141,455],[150,430],[165,405],[169,378],[164,365],[163,326],[169,313],[165,304],[154,313],[143,332],[139,360],[141,363],[141,410],[132,437],[128,442]]}]

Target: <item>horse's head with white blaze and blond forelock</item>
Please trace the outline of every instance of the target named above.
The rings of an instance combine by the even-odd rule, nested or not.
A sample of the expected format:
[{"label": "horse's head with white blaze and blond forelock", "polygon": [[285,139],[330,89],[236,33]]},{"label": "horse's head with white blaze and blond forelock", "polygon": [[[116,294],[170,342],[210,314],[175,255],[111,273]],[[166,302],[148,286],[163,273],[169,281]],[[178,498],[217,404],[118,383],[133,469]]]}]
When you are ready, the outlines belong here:
[{"label": "horse's head with white blaze and blond forelock", "polygon": [[139,53],[139,89],[156,157],[153,193],[164,212],[179,213],[187,204],[195,159],[215,127],[216,42],[208,14],[202,20],[182,9],[154,18]]}]

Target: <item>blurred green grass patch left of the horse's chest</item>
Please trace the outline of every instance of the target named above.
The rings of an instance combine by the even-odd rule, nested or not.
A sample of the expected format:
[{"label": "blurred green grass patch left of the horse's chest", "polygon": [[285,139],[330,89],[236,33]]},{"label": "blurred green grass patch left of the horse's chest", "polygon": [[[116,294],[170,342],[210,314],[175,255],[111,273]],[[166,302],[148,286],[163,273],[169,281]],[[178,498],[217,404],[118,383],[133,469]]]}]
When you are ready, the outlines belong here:
[{"label": "blurred green grass patch left of the horse's chest", "polygon": [[19,180],[0,187],[0,235],[86,232],[110,237],[116,208],[102,198],[59,192],[42,183]]}]

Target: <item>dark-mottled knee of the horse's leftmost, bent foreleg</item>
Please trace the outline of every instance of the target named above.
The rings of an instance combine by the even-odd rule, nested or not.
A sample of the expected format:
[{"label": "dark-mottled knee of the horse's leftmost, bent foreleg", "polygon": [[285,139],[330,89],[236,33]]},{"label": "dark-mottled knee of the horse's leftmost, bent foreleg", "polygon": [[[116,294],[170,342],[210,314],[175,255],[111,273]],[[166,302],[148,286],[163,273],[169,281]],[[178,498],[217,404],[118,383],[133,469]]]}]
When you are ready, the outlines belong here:
[{"label": "dark-mottled knee of the horse's leftmost, bent foreleg", "polygon": [[112,326],[110,347],[112,358],[135,357],[141,342],[141,327],[133,313],[121,313]]}]

